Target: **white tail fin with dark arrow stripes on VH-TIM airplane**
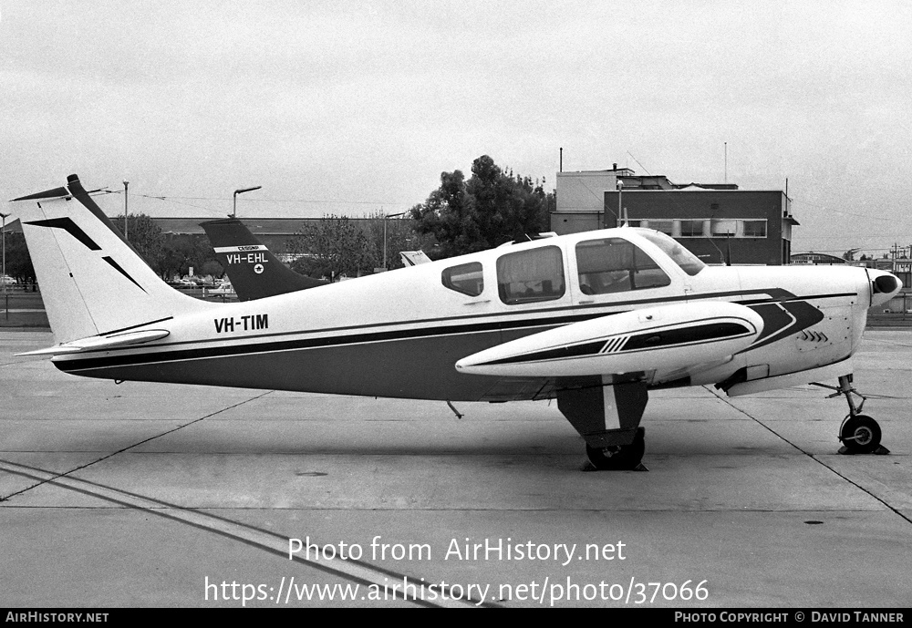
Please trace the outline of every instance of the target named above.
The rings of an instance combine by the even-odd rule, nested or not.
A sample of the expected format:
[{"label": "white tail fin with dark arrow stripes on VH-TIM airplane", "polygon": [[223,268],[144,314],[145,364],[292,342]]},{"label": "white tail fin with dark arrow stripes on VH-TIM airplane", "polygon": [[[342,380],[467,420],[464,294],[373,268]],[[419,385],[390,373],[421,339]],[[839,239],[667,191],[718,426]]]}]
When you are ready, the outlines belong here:
[{"label": "white tail fin with dark arrow stripes on VH-TIM airplane", "polygon": [[161,281],[77,175],[12,201],[57,343],[141,327],[212,304]]}]

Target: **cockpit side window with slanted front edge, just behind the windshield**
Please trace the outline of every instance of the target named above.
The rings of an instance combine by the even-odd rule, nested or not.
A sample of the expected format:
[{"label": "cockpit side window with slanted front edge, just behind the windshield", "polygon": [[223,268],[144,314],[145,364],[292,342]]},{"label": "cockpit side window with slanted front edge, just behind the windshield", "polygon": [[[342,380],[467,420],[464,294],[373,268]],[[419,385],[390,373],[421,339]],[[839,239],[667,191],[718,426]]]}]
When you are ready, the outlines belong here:
[{"label": "cockpit side window with slanted front edge, just behind the windshield", "polygon": [[671,283],[652,258],[622,238],[586,240],[576,244],[576,269],[579,288],[584,294],[645,290]]}]

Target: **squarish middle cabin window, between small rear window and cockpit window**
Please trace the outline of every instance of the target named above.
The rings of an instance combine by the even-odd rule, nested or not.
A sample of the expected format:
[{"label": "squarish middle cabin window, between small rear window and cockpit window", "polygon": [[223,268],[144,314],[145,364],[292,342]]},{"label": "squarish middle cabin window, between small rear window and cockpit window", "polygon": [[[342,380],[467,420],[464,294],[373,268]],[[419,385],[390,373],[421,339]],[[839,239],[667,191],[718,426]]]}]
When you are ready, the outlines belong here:
[{"label": "squarish middle cabin window, between small rear window and cockpit window", "polygon": [[564,296],[564,255],[559,247],[507,253],[497,260],[497,290],[505,304],[553,301]]}]

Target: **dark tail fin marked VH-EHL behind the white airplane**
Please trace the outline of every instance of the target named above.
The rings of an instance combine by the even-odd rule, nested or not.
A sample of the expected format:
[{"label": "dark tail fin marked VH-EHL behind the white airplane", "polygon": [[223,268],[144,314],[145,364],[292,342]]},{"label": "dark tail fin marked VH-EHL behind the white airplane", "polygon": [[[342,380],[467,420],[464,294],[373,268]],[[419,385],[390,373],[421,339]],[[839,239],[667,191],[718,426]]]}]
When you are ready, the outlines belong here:
[{"label": "dark tail fin marked VH-EHL behind the white airplane", "polygon": [[201,222],[239,301],[316,288],[326,282],[295,273],[236,218]]}]

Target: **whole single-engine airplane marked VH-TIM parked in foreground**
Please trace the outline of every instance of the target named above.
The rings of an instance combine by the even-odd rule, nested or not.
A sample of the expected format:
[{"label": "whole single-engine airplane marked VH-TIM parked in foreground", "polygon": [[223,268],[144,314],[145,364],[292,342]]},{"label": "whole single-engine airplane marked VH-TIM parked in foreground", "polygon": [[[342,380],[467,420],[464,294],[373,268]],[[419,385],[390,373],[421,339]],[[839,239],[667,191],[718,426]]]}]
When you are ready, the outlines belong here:
[{"label": "whole single-engine airplane marked VH-TIM parked in foreground", "polygon": [[60,370],[443,401],[556,398],[596,468],[636,468],[651,388],[838,381],[839,438],[879,446],[850,358],[902,286],[855,267],[711,267],[621,227],[508,244],[237,304],[161,282],[76,175],[16,199]]}]

